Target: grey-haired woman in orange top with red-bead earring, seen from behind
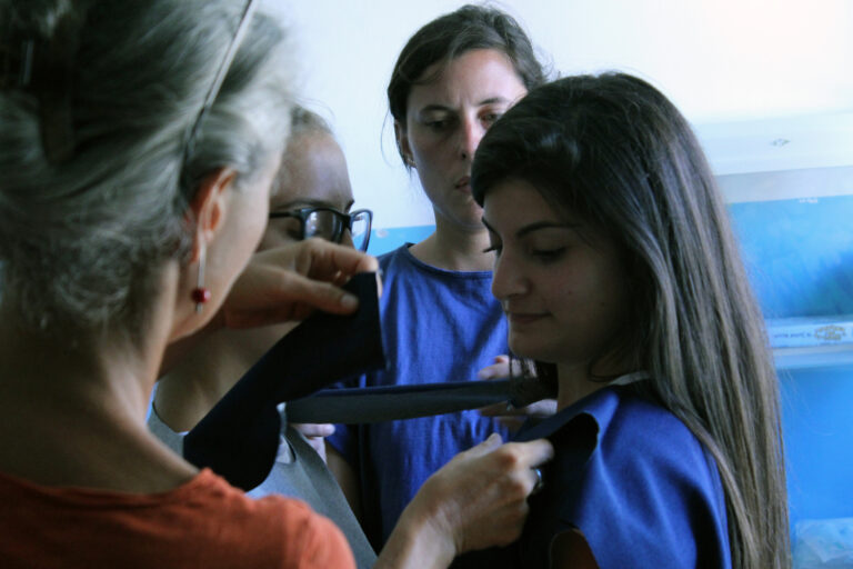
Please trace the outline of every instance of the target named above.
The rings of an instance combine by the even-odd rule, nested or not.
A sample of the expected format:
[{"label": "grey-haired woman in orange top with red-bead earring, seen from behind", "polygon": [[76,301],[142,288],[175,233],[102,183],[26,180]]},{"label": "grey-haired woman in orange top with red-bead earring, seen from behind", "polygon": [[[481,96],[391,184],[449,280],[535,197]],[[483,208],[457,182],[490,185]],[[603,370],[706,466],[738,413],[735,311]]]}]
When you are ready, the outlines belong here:
[{"label": "grey-haired woman in orange top with red-bead earring, seen from behind", "polygon": [[[263,292],[282,298],[264,312],[293,313],[288,303],[305,299],[354,309],[320,300],[343,298],[330,283],[274,266],[258,274],[269,256],[252,258],[292,83],[282,30],[255,9],[0,0],[4,569],[354,567],[327,518],[199,471],[144,420],[167,347],[223,311],[258,308],[247,274],[254,284],[265,274]],[[377,269],[321,240],[275,253],[323,273]],[[531,467],[550,449],[491,441],[454,459],[424,485],[377,566],[446,567],[458,552],[512,540]]]}]

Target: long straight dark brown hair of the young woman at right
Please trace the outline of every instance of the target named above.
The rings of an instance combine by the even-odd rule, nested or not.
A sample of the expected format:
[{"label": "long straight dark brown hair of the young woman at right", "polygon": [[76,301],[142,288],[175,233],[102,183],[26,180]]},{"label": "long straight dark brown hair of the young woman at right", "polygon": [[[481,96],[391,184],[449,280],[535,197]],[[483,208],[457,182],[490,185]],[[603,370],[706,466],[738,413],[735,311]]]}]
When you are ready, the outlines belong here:
[{"label": "long straight dark brown hair of the young woman at right", "polygon": [[639,389],[716,459],[734,567],[787,567],[777,379],[727,212],[688,122],[634,77],[564,78],[531,91],[483,138],[476,200],[510,178],[620,244],[635,298],[609,350],[651,372]]}]

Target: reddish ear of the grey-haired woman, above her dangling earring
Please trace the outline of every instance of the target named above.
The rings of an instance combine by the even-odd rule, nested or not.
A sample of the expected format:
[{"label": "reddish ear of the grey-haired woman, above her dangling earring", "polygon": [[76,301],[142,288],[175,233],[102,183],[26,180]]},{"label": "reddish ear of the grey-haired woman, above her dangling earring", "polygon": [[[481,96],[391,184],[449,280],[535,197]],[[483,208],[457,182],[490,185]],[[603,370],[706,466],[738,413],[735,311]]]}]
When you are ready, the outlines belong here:
[{"label": "reddish ear of the grey-haired woman, above her dangling earring", "polygon": [[237,178],[233,168],[219,168],[208,174],[195,190],[187,216],[195,223],[190,262],[195,262],[201,251],[213,240],[228,212],[228,193]]}]

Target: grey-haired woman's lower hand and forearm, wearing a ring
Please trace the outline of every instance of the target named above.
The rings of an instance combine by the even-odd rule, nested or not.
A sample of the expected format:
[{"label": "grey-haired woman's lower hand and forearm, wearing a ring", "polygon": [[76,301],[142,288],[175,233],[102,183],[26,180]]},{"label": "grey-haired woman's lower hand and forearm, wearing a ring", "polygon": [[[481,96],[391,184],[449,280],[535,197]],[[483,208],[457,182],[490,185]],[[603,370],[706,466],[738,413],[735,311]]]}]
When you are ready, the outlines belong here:
[{"label": "grey-haired woman's lower hand and forearm, wearing a ring", "polygon": [[511,543],[528,516],[532,469],[552,455],[546,440],[501,445],[498,435],[460,452],[403,510],[374,568],[444,568],[465,551]]}]

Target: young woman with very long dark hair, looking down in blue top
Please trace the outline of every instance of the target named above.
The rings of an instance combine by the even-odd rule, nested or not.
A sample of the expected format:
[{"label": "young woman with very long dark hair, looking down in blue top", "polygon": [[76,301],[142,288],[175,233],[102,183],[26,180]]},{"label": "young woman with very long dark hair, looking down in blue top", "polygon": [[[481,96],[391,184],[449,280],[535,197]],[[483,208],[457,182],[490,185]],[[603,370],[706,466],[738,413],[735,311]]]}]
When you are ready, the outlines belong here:
[{"label": "young woman with very long dark hair, looking down in blue top", "polygon": [[558,387],[524,567],[790,565],[779,388],[686,120],[626,74],[534,89],[472,186],[510,348]]}]

